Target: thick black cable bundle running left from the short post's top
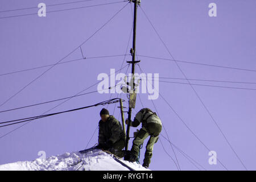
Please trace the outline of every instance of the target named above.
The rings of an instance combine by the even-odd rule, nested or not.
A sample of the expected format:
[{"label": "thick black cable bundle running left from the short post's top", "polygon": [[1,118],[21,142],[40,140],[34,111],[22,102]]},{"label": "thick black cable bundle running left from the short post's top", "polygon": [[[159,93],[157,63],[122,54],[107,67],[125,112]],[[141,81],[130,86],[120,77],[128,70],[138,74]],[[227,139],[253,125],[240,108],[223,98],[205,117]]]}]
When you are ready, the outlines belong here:
[{"label": "thick black cable bundle running left from the short post's top", "polygon": [[[116,101],[114,101],[114,100],[116,100]],[[38,115],[38,116],[35,116],[35,117],[22,118],[22,119],[15,119],[15,120],[13,120],[13,121],[0,122],[0,124],[3,124],[3,123],[14,122],[14,121],[20,121],[20,122],[11,123],[11,124],[8,124],[8,125],[3,125],[3,126],[0,126],[0,127],[6,127],[6,126],[10,126],[10,125],[16,125],[16,124],[18,124],[18,123],[23,123],[23,122],[27,122],[27,121],[33,121],[33,120],[35,120],[35,119],[40,119],[40,118],[44,118],[44,117],[49,117],[49,116],[57,115],[57,114],[69,113],[69,112],[72,112],[72,111],[77,111],[77,110],[81,110],[81,109],[86,109],[86,108],[93,107],[93,106],[106,105],[106,104],[113,104],[113,103],[115,103],[115,102],[119,102],[119,98],[113,98],[112,100],[99,102],[99,103],[94,104],[94,105],[79,107],[79,108],[71,109],[71,110],[65,110],[65,111],[61,111],[61,112],[58,112],[58,113],[51,113],[51,114],[45,114],[45,115]],[[25,120],[25,119],[26,119],[26,120]],[[22,120],[25,120],[25,121],[22,121]]]}]

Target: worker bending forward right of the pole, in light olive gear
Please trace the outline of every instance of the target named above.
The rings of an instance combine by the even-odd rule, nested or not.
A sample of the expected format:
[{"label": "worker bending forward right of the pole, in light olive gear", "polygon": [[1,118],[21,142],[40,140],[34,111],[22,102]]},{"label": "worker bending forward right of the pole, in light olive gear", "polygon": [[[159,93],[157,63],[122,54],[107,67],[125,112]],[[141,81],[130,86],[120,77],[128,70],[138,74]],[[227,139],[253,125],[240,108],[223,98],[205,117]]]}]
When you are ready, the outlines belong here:
[{"label": "worker bending forward right of the pole, in light olive gear", "polygon": [[134,118],[134,121],[129,121],[126,119],[126,124],[128,125],[130,122],[130,126],[137,127],[140,123],[142,123],[142,128],[139,130],[137,135],[133,140],[133,146],[131,147],[130,152],[130,162],[135,162],[138,158],[139,154],[139,146],[143,144],[144,140],[150,136],[150,139],[147,142],[146,152],[143,160],[143,167],[148,168],[154,144],[157,142],[159,138],[159,134],[162,130],[162,122],[160,118],[154,113],[152,110],[148,108],[141,109]]}]

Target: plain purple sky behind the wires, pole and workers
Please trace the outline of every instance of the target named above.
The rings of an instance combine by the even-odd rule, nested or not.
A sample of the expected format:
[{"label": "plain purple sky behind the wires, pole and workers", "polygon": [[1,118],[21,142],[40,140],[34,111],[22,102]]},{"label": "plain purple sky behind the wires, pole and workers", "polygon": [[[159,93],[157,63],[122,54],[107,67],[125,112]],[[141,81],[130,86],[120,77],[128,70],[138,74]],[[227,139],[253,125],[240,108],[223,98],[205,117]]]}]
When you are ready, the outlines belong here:
[{"label": "plain purple sky behind the wires, pole and workers", "polygon": [[[47,7],[47,11],[117,1],[94,0],[51,6]],[[36,7],[40,2],[53,5],[72,1],[3,0],[0,2],[0,11]],[[217,17],[209,17],[208,15],[208,5],[212,2],[217,5]],[[88,39],[126,3],[48,13],[46,17],[28,15],[0,19],[0,74],[57,63]],[[162,0],[156,3],[156,1],[142,0],[141,6],[176,60],[256,69],[256,1]],[[0,17],[31,14],[37,13],[37,11],[38,9],[11,11],[0,13]],[[125,54],[132,20],[131,6],[127,5],[111,22],[82,45],[84,55],[94,57]],[[131,47],[132,43],[130,42],[129,49]],[[172,59],[140,8],[138,8],[137,22],[137,53],[138,55]],[[80,58],[81,51],[77,49],[65,57],[63,61]],[[40,76],[49,67],[0,76],[0,105],[2,105],[0,111],[73,96],[95,84],[98,74],[109,74],[110,68],[120,69],[123,59],[124,56],[86,59],[56,65],[4,105],[2,105],[3,102]],[[173,61],[141,56],[139,59],[141,60],[141,68],[146,73],[159,73],[159,77],[184,78]],[[131,60],[131,56],[126,56],[125,60]],[[187,78],[241,82],[255,82],[256,78],[256,73],[253,71],[185,63],[179,63],[179,66]],[[136,70],[139,72],[138,67]],[[122,73],[125,72],[126,68],[122,70]],[[131,67],[128,72],[131,72]],[[164,81],[181,82],[181,80]],[[255,84],[206,81],[191,81],[191,83],[256,89]],[[193,85],[193,88],[246,168],[255,170],[255,90],[196,85]],[[94,90],[97,90],[97,85],[85,92]],[[201,142],[210,150],[217,152],[218,160],[227,169],[245,169],[190,85],[160,82],[159,92]],[[117,94],[112,96],[112,98],[114,97],[117,97]],[[99,93],[76,97],[48,113],[88,106],[109,100],[109,98],[110,94]],[[124,94],[122,98],[127,101]],[[141,99],[144,106],[155,110],[152,102],[147,99],[147,94],[141,94]],[[60,103],[61,101],[0,113],[1,122],[40,115]],[[217,162],[216,165],[209,165],[207,148],[185,127],[184,123],[160,96],[158,100],[154,100],[154,104],[158,109],[168,137],[175,146],[207,170],[225,170],[220,162]],[[124,105],[127,106],[127,102]],[[138,99],[132,118],[134,118],[136,111],[141,108],[142,105]],[[46,151],[47,156],[51,156],[84,149],[98,125],[101,109],[102,107],[98,106],[55,115],[32,121],[20,127],[13,133],[0,138],[0,164],[34,160],[39,157],[38,152],[42,150]],[[109,105],[108,109],[110,114],[113,114],[114,105]],[[119,108],[115,108],[114,116],[119,118]],[[120,118],[119,121],[121,121]],[[5,135],[21,125],[2,127],[0,134],[1,136]],[[133,135],[133,131],[135,128],[131,129],[131,135]],[[162,135],[167,137],[164,129]],[[88,147],[97,143],[97,137],[98,131],[94,134]],[[175,159],[170,144],[163,137],[160,138],[166,152]],[[130,140],[129,148],[132,140]],[[147,140],[145,140],[141,151],[141,162],[144,158],[146,142]],[[182,170],[198,170],[175,147],[174,151]],[[177,170],[172,159],[164,152],[160,141],[155,144],[153,152],[151,169]]]}]

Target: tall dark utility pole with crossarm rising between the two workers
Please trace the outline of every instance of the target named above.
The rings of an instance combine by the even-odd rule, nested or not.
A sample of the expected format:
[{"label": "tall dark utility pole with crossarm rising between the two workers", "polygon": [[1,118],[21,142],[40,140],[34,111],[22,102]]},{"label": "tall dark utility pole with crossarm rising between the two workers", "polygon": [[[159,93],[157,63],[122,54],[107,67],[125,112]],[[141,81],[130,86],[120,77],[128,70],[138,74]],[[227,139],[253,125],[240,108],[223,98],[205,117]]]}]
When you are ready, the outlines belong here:
[{"label": "tall dark utility pole with crossarm rising between the two workers", "polygon": [[[133,56],[132,61],[127,61],[127,63],[131,63],[131,84],[133,84],[132,89],[134,89],[135,83],[134,83],[134,71],[135,71],[135,64],[138,63],[139,61],[135,61],[135,53],[136,53],[136,22],[137,22],[137,6],[141,3],[140,0],[130,0],[130,2],[134,3],[134,20],[133,20],[133,48],[131,49],[130,53],[131,56]],[[133,92],[133,91],[132,91]],[[131,94],[130,94],[131,96]],[[129,102],[129,111],[128,111],[128,119],[131,121],[131,109],[133,106],[130,105]],[[130,123],[127,125],[127,130],[126,130],[126,143],[125,143],[125,151],[128,150],[128,143],[129,143],[129,133],[130,133]],[[128,160],[125,156],[125,160]]]}]

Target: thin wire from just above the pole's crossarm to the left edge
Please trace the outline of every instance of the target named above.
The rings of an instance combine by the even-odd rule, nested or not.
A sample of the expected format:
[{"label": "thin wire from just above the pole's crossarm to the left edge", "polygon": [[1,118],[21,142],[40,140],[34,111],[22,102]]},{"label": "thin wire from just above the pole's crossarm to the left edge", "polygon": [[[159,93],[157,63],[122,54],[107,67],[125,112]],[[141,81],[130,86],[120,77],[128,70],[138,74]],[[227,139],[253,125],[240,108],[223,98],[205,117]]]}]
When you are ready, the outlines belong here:
[{"label": "thin wire from just above the pole's crossarm to the left edge", "polygon": [[[86,57],[86,59],[97,59],[97,58],[119,57],[119,56],[125,56],[125,55],[94,56],[94,57]],[[65,63],[72,63],[72,62],[75,62],[75,61],[86,60],[86,59],[82,59],[82,58],[81,58],[81,59],[63,61],[63,62],[57,63],[57,64],[48,64],[48,65],[43,65],[43,66],[35,67],[35,68],[22,69],[22,70],[19,70],[19,71],[14,71],[14,72],[9,72],[9,73],[2,73],[2,74],[0,74],[0,76],[11,75],[11,74],[14,74],[14,73],[20,73],[20,72],[26,72],[26,71],[32,71],[32,70],[34,70],[34,69],[45,68],[45,67],[51,67],[52,65],[59,65],[59,64],[65,64]]]}]

